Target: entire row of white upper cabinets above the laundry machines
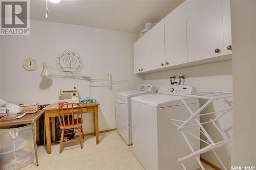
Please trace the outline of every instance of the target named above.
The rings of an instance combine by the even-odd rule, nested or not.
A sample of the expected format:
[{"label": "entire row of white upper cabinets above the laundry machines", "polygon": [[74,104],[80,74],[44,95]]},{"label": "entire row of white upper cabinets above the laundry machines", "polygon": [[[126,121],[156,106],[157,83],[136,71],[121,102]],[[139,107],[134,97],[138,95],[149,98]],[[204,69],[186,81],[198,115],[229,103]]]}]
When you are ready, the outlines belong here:
[{"label": "entire row of white upper cabinets above the laundry machines", "polygon": [[134,72],[231,59],[228,0],[186,0],[134,43]]}]

